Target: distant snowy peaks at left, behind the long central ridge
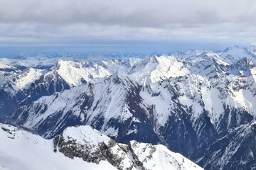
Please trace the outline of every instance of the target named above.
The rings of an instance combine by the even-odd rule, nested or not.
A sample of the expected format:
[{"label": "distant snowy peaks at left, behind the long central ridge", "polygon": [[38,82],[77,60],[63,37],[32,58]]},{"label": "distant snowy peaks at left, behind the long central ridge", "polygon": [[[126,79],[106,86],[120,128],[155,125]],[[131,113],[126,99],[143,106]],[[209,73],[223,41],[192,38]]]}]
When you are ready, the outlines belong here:
[{"label": "distant snowy peaks at left, behind the long central ridge", "polygon": [[102,81],[117,70],[126,72],[127,68],[139,61],[137,58],[101,62],[70,58],[0,59],[0,117],[41,96],[49,96],[87,82]]}]

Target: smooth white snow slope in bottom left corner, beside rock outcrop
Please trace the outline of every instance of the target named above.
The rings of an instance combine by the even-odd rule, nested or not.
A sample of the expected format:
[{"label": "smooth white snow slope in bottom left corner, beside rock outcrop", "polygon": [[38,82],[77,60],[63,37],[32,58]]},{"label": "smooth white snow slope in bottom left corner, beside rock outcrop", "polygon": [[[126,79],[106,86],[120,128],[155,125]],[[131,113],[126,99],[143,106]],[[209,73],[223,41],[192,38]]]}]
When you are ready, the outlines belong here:
[{"label": "smooth white snow slope in bottom left corner, beside rock outcrop", "polygon": [[0,126],[0,165],[7,169],[115,169],[106,161],[94,164],[80,158],[69,159],[60,152],[53,152],[53,140],[10,125]]}]

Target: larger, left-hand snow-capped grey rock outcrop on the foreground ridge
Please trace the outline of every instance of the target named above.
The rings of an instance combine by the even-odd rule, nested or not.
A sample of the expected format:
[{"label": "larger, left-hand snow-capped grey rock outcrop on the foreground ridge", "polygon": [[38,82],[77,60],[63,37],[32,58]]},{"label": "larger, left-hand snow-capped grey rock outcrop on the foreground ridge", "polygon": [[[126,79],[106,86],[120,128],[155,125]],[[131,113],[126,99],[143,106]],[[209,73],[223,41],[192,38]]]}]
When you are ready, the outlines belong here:
[{"label": "larger, left-hand snow-capped grey rock outcrop on the foreground ridge", "polygon": [[73,159],[80,157],[86,162],[99,164],[107,160],[118,169],[132,169],[133,165],[127,152],[127,146],[111,140],[89,126],[67,128],[62,135],[54,138],[54,151],[62,152]]}]

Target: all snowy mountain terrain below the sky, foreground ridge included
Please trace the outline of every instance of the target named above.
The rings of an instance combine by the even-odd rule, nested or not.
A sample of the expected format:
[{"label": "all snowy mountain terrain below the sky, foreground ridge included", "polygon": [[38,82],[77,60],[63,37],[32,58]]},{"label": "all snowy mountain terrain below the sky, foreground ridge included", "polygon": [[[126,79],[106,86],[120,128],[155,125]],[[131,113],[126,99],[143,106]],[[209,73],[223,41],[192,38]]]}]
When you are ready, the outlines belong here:
[{"label": "all snowy mountain terrain below the sky, foreground ridge included", "polygon": [[0,58],[0,169],[256,169],[255,101],[255,46]]}]

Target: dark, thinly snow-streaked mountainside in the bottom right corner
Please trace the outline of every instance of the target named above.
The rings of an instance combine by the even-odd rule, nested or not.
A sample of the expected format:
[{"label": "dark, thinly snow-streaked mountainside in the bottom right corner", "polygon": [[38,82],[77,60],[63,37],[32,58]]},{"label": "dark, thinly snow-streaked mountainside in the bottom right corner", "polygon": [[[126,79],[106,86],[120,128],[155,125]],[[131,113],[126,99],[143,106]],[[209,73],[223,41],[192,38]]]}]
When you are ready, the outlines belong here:
[{"label": "dark, thinly snow-streaked mountainside in the bottom right corner", "polygon": [[[192,156],[205,169],[255,169],[256,124],[241,125]],[[235,164],[234,164],[235,162]]]}]

